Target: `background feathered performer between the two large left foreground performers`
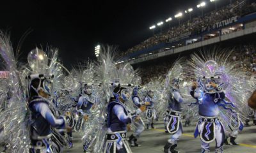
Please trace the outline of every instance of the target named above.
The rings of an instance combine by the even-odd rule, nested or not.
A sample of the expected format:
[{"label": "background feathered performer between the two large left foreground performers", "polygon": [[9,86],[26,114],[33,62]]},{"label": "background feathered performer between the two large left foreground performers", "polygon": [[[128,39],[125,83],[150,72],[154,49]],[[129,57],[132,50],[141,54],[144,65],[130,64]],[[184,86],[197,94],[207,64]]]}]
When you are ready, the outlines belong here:
[{"label": "background feathered performer between the two large left foreground performers", "polygon": [[93,66],[93,63],[90,61],[86,65],[79,64],[78,69],[72,69],[72,73],[76,76],[76,79],[74,79],[74,83],[70,82],[74,86],[73,90],[79,91],[76,93],[79,94],[79,98],[77,98],[76,110],[74,110],[76,116],[74,128],[83,135],[84,152],[92,151],[91,146],[96,137],[96,130],[93,128],[93,124],[97,124],[95,122],[97,120],[95,114],[97,111],[97,84],[94,84],[95,73]]}]

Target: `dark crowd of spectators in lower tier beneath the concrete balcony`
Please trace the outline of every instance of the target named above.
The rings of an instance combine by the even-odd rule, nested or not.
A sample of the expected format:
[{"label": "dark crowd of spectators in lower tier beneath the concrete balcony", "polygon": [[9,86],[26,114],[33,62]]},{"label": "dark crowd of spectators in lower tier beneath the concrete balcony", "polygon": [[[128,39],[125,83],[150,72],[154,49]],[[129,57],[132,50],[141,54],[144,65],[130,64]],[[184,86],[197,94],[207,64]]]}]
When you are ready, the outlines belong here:
[{"label": "dark crowd of spectators in lower tier beneath the concrete balcony", "polygon": [[[230,60],[240,62],[237,64],[237,68],[243,68],[246,75],[252,75],[253,73],[256,75],[256,45],[241,45],[235,47],[232,55],[230,55]],[[142,84],[147,84],[151,80],[165,78],[171,67],[171,61],[140,66]]]}]

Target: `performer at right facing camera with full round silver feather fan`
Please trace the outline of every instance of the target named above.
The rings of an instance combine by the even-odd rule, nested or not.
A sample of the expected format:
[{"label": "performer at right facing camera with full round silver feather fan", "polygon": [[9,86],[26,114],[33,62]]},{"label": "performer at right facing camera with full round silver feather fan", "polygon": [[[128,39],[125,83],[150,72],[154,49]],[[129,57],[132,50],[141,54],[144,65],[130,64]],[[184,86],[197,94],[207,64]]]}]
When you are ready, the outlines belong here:
[{"label": "performer at right facing camera with full round silver feather fan", "polygon": [[200,136],[201,152],[209,152],[209,144],[214,140],[215,152],[223,152],[225,133],[242,125],[238,114],[243,113],[239,108],[244,106],[247,90],[245,75],[237,69],[236,62],[229,61],[231,53],[224,49],[193,54],[186,69],[196,80],[191,85],[190,94],[196,99],[191,105],[198,106],[199,120],[194,136]]}]

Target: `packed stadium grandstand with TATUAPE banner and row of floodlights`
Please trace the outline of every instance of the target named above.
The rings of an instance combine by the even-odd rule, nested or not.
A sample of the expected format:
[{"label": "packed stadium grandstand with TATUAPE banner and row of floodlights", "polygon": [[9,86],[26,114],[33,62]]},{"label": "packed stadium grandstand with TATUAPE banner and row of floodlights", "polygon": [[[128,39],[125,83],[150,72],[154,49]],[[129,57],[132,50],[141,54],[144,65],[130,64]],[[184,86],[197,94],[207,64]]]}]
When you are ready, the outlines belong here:
[{"label": "packed stadium grandstand with TATUAPE banner and row of floodlights", "polygon": [[[197,6],[191,8],[193,9],[199,8]],[[170,20],[172,18],[166,19],[166,22]],[[152,25],[150,30],[155,28],[156,25]],[[143,83],[147,83],[164,77],[172,62],[180,54],[186,56],[188,52],[231,47],[234,50],[232,55],[234,61],[241,61],[241,66],[248,71],[248,75],[251,75],[256,70],[256,46],[253,45],[255,36],[256,2],[232,1],[219,9],[177,23],[167,31],[154,34],[139,45],[122,52],[120,54],[122,59],[116,61],[116,64],[129,62],[135,68],[140,68],[143,71],[141,73]]]}]

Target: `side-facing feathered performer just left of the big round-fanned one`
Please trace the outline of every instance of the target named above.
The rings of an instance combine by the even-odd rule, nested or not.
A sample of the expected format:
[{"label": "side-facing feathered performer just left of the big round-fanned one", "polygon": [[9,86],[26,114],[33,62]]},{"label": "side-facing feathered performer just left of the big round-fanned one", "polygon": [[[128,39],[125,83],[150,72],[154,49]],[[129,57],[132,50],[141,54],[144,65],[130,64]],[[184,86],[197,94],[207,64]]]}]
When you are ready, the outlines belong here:
[{"label": "side-facing feathered performer just left of the big round-fanned one", "polygon": [[[175,150],[177,147],[177,140],[179,140],[180,135],[182,135],[182,103],[184,103],[184,98],[181,96],[180,82],[182,82],[184,73],[182,64],[184,64],[183,59],[178,59],[174,62],[172,68],[168,71],[165,78],[164,84],[164,98],[166,99],[166,104],[168,109],[164,112],[164,126],[166,133],[170,133],[171,136],[168,142],[164,145],[164,152],[179,152]],[[166,105],[164,105],[166,107]],[[161,108],[164,109],[164,108]]]}]

